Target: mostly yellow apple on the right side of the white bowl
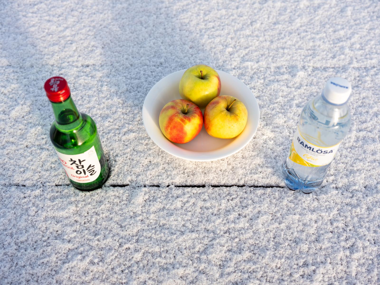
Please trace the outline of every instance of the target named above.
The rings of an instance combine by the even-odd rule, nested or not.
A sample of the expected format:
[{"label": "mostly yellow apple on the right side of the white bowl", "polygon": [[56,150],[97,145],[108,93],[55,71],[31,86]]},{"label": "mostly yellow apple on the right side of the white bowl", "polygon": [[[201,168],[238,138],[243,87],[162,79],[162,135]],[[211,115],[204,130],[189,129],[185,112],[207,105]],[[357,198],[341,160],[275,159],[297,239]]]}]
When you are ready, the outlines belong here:
[{"label": "mostly yellow apple on the right side of the white bowl", "polygon": [[204,128],[210,136],[231,139],[247,124],[248,112],[242,101],[232,96],[218,96],[204,109]]}]

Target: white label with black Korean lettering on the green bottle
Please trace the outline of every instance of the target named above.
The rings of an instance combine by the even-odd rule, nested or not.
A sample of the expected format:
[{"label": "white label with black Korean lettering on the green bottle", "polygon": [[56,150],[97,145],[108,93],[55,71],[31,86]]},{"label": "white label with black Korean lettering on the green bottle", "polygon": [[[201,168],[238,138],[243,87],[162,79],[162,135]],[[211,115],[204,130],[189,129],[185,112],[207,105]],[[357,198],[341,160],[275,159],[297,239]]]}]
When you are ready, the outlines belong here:
[{"label": "white label with black Korean lettering on the green bottle", "polygon": [[92,146],[82,154],[62,154],[55,150],[67,176],[79,183],[88,183],[97,179],[100,174],[100,162],[95,147]]}]

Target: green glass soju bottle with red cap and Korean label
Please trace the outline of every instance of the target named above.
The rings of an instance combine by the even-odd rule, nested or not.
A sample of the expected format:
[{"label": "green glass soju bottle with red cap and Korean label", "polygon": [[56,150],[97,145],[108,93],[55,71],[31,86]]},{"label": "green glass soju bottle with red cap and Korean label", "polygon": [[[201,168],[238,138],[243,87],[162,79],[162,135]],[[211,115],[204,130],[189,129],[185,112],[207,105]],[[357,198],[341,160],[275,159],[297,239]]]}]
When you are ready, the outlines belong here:
[{"label": "green glass soju bottle with red cap and Korean label", "polygon": [[44,88],[55,116],[50,139],[71,184],[82,191],[100,187],[108,178],[108,164],[95,122],[78,112],[64,78],[49,78]]}]

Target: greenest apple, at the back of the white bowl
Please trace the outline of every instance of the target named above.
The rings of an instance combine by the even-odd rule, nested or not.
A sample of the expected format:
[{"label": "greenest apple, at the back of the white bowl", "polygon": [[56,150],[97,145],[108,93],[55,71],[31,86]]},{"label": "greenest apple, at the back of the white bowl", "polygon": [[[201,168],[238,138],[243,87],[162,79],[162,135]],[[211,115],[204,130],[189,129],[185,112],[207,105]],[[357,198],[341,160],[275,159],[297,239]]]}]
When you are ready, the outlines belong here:
[{"label": "greenest apple, at the back of the white bowl", "polygon": [[219,74],[207,65],[194,65],[185,71],[179,82],[179,93],[203,109],[220,94]]}]

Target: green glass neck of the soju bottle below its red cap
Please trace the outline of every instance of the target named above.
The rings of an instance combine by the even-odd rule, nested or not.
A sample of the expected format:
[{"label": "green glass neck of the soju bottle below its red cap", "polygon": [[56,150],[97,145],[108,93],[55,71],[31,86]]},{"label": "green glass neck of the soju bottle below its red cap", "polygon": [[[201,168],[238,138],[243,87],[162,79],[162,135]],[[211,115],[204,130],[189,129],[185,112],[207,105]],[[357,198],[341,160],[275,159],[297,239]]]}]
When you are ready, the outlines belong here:
[{"label": "green glass neck of the soju bottle below its red cap", "polygon": [[65,101],[51,102],[55,116],[55,125],[63,131],[73,130],[82,123],[82,116],[78,112],[73,99],[69,96]]}]

